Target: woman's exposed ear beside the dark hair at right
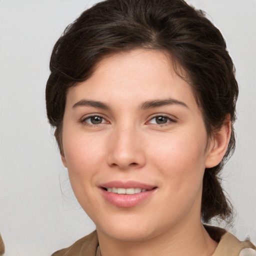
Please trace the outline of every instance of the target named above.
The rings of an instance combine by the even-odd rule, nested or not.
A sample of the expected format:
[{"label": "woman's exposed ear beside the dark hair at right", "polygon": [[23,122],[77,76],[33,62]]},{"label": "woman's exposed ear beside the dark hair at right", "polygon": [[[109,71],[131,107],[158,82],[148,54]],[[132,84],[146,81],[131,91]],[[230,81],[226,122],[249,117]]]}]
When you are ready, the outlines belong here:
[{"label": "woman's exposed ear beside the dark hair at right", "polygon": [[222,160],[229,143],[231,134],[230,114],[227,114],[221,128],[213,135],[210,140],[205,160],[205,167],[216,166]]}]

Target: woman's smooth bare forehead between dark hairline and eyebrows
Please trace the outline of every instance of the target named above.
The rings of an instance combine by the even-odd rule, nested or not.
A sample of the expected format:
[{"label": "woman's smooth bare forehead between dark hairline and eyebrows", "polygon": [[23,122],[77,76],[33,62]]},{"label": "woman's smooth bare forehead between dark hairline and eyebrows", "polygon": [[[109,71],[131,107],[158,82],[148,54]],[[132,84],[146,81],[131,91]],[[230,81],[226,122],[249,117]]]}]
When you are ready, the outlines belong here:
[{"label": "woman's smooth bare forehead between dark hairline and eyebrows", "polygon": [[[134,49],[109,54],[98,61],[87,80],[69,88],[67,103],[85,97],[123,105],[127,101],[139,104],[171,97],[193,104],[191,86],[176,69],[171,57],[160,50]],[[181,68],[178,72],[183,76]]]}]

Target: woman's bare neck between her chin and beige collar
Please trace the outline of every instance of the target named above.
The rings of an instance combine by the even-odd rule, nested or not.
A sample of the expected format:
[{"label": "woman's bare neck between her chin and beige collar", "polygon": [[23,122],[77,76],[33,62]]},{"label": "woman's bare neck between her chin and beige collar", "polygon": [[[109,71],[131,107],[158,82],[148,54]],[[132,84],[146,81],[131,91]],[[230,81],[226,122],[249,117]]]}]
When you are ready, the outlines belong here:
[{"label": "woman's bare neck between her chin and beige collar", "polygon": [[217,242],[199,223],[183,223],[165,233],[142,241],[123,241],[106,237],[98,230],[101,256],[210,256]]}]

